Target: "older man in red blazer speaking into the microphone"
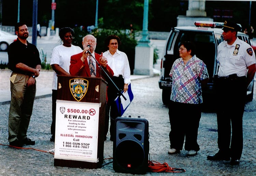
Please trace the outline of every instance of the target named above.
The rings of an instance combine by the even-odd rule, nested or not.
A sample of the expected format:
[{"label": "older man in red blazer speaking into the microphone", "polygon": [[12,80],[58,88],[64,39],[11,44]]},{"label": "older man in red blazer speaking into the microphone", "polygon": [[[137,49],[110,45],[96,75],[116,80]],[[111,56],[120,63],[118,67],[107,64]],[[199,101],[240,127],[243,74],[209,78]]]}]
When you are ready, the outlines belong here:
[{"label": "older man in red blazer speaking into the microphone", "polygon": [[[83,48],[84,51],[71,56],[69,73],[73,76],[84,76],[84,77],[99,77],[106,80],[106,75],[103,73],[101,68],[97,65],[95,60],[91,57],[91,60],[94,65],[94,74],[91,76],[91,70],[89,68],[89,52],[91,55],[99,62],[102,68],[108,73],[110,77],[113,77],[114,72],[107,64],[107,59],[100,54],[94,52],[96,48],[96,38],[93,35],[86,35],[83,38]],[[95,73],[96,72],[96,73]]]}]

